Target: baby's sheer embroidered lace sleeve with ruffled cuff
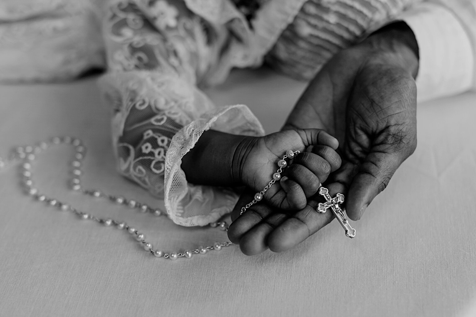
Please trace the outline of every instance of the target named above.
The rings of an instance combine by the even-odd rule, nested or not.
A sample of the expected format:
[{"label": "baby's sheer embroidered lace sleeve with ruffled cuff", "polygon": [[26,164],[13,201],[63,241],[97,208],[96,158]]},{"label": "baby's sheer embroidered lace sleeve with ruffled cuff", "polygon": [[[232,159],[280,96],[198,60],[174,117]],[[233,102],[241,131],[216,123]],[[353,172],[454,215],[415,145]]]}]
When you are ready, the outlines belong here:
[{"label": "baby's sheer embroidered lace sleeve with ruffled cuff", "polygon": [[187,182],[182,157],[203,131],[262,135],[246,106],[216,107],[197,88],[216,69],[226,28],[213,28],[182,1],[109,5],[103,25],[108,73],[99,83],[113,110],[119,172],[164,198],[170,218],[206,225],[229,212],[237,195]]}]

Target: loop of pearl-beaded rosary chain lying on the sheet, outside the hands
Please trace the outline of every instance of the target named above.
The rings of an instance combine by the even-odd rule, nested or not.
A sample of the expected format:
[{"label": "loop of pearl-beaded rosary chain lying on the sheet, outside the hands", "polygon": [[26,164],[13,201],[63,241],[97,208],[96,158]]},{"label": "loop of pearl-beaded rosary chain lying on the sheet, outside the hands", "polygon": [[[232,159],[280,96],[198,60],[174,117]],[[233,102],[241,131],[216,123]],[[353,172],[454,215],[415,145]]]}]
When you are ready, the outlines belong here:
[{"label": "loop of pearl-beaded rosary chain lying on the sheet, outside the hands", "polygon": [[[99,218],[95,215],[92,215],[87,212],[79,211],[78,209],[74,208],[68,203],[61,202],[59,199],[52,198],[47,196],[46,194],[41,193],[35,186],[32,180],[32,163],[36,160],[36,155],[44,152],[45,150],[49,149],[54,145],[59,144],[69,144],[75,148],[74,160],[71,162],[72,167],[72,178],[70,180],[71,189],[77,192],[82,192],[85,195],[96,197],[96,198],[103,198],[108,200],[109,202],[116,203],[119,205],[128,206],[131,209],[137,209],[144,213],[151,213],[156,216],[167,216],[167,213],[160,210],[159,208],[152,208],[145,203],[138,202],[133,199],[127,199],[123,196],[115,196],[110,195],[105,192],[99,190],[91,190],[91,189],[83,189],[81,184],[81,175],[83,174],[81,167],[84,157],[86,155],[86,147],[83,145],[82,141],[76,138],[72,138],[69,136],[66,137],[53,137],[49,142],[41,142],[36,145],[27,145],[27,146],[20,146],[15,148],[11,153],[8,155],[7,159],[0,157],[0,171],[2,169],[8,168],[10,165],[14,165],[20,163],[20,177],[22,178],[21,183],[25,192],[32,196],[38,202],[45,202],[51,207],[58,208],[62,211],[70,211],[76,214],[79,219],[82,220],[92,220],[96,221],[104,226],[115,226],[119,230],[125,230],[134,238],[142,244],[144,250],[150,252],[155,257],[160,258],[163,257],[165,259],[175,260],[178,258],[188,258],[192,257],[192,254],[206,254],[209,250],[221,250],[222,247],[228,247],[233,243],[230,241],[226,242],[215,242],[213,246],[208,247],[198,247],[195,250],[185,250],[183,252],[170,252],[167,253],[165,251],[154,249],[150,242],[145,240],[145,235],[139,232],[134,227],[130,226],[129,224],[123,221],[117,221],[114,219],[104,219]],[[218,228],[222,231],[228,231],[228,225],[226,221],[215,221],[209,224],[212,228]]]}]

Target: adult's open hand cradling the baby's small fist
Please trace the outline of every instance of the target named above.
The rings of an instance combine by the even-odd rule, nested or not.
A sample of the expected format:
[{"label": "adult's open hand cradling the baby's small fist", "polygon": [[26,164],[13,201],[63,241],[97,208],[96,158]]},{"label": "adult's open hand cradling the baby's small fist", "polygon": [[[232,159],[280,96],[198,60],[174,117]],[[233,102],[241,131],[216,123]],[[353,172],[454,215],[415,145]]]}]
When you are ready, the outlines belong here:
[{"label": "adult's open hand cradling the baby's small fist", "polygon": [[[320,128],[339,140],[342,166],[326,186],[344,192],[347,215],[360,219],[416,148],[417,44],[403,22],[387,26],[332,58],[310,82],[283,129]],[[245,195],[246,196],[246,195]],[[248,197],[242,197],[232,220]],[[265,204],[249,208],[228,229],[245,254],[287,250],[332,220],[309,200],[295,214]]]}]

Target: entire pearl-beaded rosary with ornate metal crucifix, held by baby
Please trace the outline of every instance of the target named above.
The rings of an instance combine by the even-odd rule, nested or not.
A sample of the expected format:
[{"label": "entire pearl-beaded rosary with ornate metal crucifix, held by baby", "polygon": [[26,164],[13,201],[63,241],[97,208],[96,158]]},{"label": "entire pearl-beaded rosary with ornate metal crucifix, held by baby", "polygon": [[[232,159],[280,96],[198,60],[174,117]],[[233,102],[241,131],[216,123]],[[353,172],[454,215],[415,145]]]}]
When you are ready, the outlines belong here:
[{"label": "entire pearl-beaded rosary with ornate metal crucifix, held by baby", "polygon": [[[18,163],[18,161],[21,161],[22,164],[20,164],[20,177],[22,177],[22,185],[25,190],[25,192],[33,197],[36,201],[38,202],[43,202],[51,207],[57,208],[61,211],[69,211],[74,213],[79,217],[79,219],[82,220],[92,220],[96,221],[104,226],[110,227],[110,226],[115,226],[119,230],[124,230],[128,232],[130,235],[132,235],[139,243],[142,244],[144,250],[150,252],[153,254],[155,257],[160,258],[163,257],[165,259],[171,259],[171,260],[176,260],[178,258],[187,258],[190,259],[193,254],[206,254],[210,250],[215,250],[219,251],[222,249],[222,247],[228,247],[229,245],[232,245],[233,243],[231,241],[225,241],[225,242],[215,242],[213,243],[212,246],[207,246],[207,247],[202,247],[200,246],[198,249],[195,250],[185,250],[183,252],[170,252],[166,253],[162,250],[153,248],[152,244],[145,240],[145,235],[141,232],[139,232],[136,228],[128,225],[125,222],[122,221],[117,221],[113,219],[102,219],[98,218],[90,213],[79,211],[76,208],[72,207],[68,203],[61,202],[58,199],[48,197],[45,194],[39,192],[39,190],[34,186],[33,180],[32,180],[32,173],[31,173],[31,168],[32,168],[32,163],[33,161],[36,160],[36,155],[44,152],[45,150],[49,149],[50,147],[54,145],[59,145],[59,144],[69,144],[75,148],[75,154],[74,154],[74,160],[71,162],[71,167],[72,167],[72,178],[70,180],[71,183],[71,189],[77,192],[81,192],[85,195],[96,197],[96,198],[104,198],[112,203],[116,203],[119,205],[124,205],[128,206],[131,209],[137,209],[140,212],[144,213],[152,213],[156,216],[166,216],[166,212],[161,211],[158,208],[152,208],[147,204],[137,202],[132,199],[126,199],[122,196],[114,196],[110,195],[98,190],[89,190],[89,189],[83,189],[81,186],[81,166],[82,162],[84,160],[84,157],[86,155],[86,147],[83,145],[81,140],[72,138],[69,136],[66,137],[53,137],[50,141],[48,142],[41,142],[40,144],[36,145],[27,145],[27,146],[21,146],[15,148],[8,159],[4,160],[2,157],[0,157],[0,171],[3,168],[6,168],[7,166]],[[299,151],[293,152],[292,150],[288,150],[286,154],[283,156],[281,160],[278,161],[278,171],[273,174],[273,179],[266,185],[266,187],[261,191],[255,194],[254,199],[249,202],[245,207],[241,209],[240,214],[245,212],[251,205],[259,202],[260,200],[263,199],[263,195],[265,192],[274,184],[276,181],[278,181],[281,178],[281,173],[283,171],[283,168],[285,168],[288,165],[288,162],[286,159],[292,159],[296,154],[298,154]],[[339,207],[339,204],[344,202],[344,195],[337,193],[336,197],[332,198],[329,195],[329,191],[327,188],[322,187],[321,184],[319,184],[319,194],[321,196],[324,196],[326,199],[326,202],[324,203],[319,203],[317,206],[317,212],[319,213],[325,213],[327,209],[331,209],[334,213],[334,215],[337,218],[337,221],[341,224],[341,226],[344,228],[346,231],[346,236],[349,238],[354,238],[355,237],[355,229],[353,229],[349,222],[347,221],[344,211]],[[218,228],[222,231],[228,231],[228,224],[226,221],[215,221],[211,222],[209,224],[210,227],[212,228]]]}]

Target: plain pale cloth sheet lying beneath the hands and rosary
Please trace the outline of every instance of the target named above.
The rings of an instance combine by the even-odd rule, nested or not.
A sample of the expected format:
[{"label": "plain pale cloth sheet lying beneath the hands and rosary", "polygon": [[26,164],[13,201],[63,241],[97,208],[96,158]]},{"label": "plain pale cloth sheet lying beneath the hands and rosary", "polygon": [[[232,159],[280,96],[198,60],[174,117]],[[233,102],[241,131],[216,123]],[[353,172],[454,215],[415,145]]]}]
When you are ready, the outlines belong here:
[{"label": "plain pale cloth sheet lying beneath the hands and rosary", "polygon": [[[245,103],[278,130],[302,83],[238,71],[209,91]],[[0,156],[11,146],[74,135],[88,146],[84,185],[155,204],[116,172],[108,109],[95,79],[0,86]],[[79,221],[25,196],[17,169],[0,173],[0,316],[476,316],[476,94],[418,106],[417,151],[353,222],[333,221],[297,248],[247,257],[237,246],[156,259],[125,231]],[[66,188],[72,152],[42,154],[38,188],[80,210],[124,220],[161,250],[225,241]]]}]

